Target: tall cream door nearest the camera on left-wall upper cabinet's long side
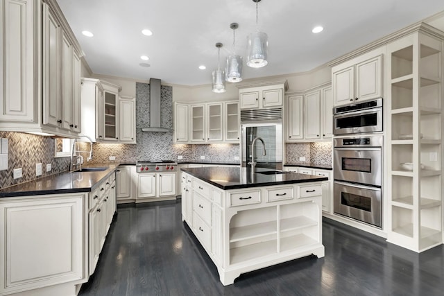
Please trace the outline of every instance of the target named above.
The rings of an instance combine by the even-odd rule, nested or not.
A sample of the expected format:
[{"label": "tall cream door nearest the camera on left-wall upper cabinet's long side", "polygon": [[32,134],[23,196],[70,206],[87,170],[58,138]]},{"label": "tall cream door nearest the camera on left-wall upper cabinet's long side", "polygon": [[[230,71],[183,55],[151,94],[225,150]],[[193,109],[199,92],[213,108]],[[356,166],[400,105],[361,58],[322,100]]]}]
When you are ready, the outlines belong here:
[{"label": "tall cream door nearest the camera on left-wall upper cabinet's long side", "polygon": [[59,50],[61,28],[49,6],[44,4],[43,7],[43,124],[59,126],[62,123]]}]

